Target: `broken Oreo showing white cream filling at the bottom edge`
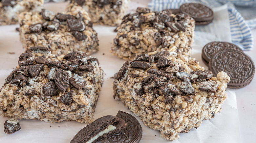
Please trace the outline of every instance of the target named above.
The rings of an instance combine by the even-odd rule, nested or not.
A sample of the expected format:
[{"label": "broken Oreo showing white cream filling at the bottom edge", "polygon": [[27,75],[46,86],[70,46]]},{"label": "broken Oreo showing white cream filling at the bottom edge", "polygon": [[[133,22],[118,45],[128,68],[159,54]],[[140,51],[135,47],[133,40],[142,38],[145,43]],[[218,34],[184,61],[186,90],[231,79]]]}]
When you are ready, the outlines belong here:
[{"label": "broken Oreo showing white cream filling at the bottom edge", "polygon": [[125,126],[123,119],[111,115],[103,116],[81,129],[70,143],[96,143],[120,132]]}]

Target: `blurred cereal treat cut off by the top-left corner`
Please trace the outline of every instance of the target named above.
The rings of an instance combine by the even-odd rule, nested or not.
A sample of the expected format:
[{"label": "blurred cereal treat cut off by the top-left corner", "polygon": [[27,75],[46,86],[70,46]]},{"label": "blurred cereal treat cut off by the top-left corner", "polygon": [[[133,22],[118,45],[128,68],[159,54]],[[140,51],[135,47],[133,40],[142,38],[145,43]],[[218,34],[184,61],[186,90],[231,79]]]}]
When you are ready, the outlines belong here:
[{"label": "blurred cereal treat cut off by the top-left corner", "polygon": [[40,12],[44,0],[0,0],[0,25],[18,24],[24,11]]}]

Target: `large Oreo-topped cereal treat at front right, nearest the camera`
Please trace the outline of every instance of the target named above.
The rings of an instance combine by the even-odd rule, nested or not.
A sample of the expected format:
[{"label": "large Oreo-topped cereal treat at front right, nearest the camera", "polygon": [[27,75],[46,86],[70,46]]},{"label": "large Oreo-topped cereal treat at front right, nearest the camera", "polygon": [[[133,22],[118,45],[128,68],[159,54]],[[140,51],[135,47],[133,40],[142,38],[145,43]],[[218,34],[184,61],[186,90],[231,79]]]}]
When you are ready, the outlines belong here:
[{"label": "large Oreo-topped cereal treat at front right, nearest the camera", "polygon": [[169,51],[126,61],[114,77],[114,98],[168,140],[214,118],[227,98],[230,80],[224,71],[213,77],[195,58],[181,59]]}]

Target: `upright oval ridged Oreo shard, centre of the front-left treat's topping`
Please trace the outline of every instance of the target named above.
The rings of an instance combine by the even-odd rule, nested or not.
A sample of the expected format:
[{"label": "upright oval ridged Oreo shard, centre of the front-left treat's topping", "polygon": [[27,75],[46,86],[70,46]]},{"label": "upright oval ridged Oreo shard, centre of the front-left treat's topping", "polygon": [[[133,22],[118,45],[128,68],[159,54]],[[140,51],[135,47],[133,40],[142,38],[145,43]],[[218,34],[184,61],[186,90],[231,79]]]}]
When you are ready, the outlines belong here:
[{"label": "upright oval ridged Oreo shard, centre of the front-left treat's topping", "polygon": [[69,87],[69,74],[62,69],[58,69],[55,73],[54,81],[60,92],[65,92]]}]

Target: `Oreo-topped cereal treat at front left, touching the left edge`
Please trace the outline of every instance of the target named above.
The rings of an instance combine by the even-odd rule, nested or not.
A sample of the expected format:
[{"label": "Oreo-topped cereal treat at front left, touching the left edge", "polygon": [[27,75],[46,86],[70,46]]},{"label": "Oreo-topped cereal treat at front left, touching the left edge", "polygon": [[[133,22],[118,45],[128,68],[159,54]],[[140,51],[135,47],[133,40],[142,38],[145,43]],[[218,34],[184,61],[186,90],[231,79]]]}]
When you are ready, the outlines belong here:
[{"label": "Oreo-topped cereal treat at front left, touching the left edge", "polygon": [[15,119],[93,121],[104,72],[84,52],[55,56],[32,47],[0,89],[0,115]]}]

